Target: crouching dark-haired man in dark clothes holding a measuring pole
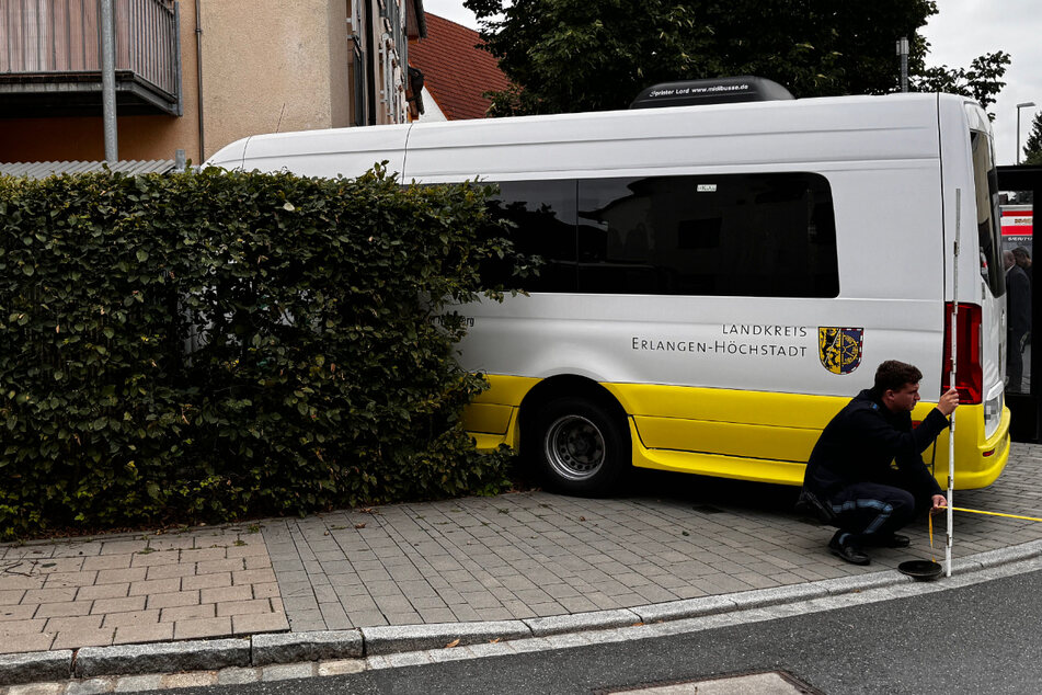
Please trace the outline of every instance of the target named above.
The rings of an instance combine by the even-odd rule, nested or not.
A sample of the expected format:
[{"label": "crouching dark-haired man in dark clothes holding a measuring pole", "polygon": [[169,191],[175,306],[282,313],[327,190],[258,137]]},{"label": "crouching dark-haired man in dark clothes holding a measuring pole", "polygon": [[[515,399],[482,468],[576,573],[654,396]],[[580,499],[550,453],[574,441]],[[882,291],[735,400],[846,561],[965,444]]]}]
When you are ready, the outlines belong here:
[{"label": "crouching dark-haired man in dark clothes holding a measuring pole", "polygon": [[908,537],[896,532],[916,514],[948,505],[923,452],[948,426],[959,392],[941,396],[913,428],[921,378],[911,364],[890,360],[879,365],[875,385],[832,419],[811,453],[801,501],[839,528],[828,549],[847,562],[871,562],[863,546],[907,547]]}]

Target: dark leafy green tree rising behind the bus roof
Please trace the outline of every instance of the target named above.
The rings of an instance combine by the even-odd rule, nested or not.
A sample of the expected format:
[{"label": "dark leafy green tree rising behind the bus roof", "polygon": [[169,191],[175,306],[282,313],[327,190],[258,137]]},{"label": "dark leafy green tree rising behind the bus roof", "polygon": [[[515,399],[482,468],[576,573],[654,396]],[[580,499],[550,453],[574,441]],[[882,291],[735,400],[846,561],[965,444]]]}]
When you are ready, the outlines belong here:
[{"label": "dark leafy green tree rising behind the bus roof", "polygon": [[[929,44],[916,32],[937,13],[935,0],[463,4],[478,16],[488,50],[514,83],[493,94],[493,115],[625,109],[651,84],[719,76],[766,77],[795,96],[891,92],[898,80],[897,37],[909,38],[911,73],[926,73]],[[978,60],[980,69],[960,73],[942,67],[931,75],[939,80],[951,72],[957,86],[975,88],[980,81],[986,98],[994,94],[989,86],[997,91],[1005,64],[992,56]]]}]

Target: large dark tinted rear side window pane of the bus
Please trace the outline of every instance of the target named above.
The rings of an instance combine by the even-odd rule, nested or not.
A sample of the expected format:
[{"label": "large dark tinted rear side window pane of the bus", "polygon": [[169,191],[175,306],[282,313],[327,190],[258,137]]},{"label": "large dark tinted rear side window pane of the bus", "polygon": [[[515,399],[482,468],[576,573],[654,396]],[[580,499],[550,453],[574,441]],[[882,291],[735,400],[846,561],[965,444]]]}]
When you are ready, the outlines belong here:
[{"label": "large dark tinted rear side window pane of the bus", "polygon": [[835,297],[836,228],[820,174],[579,182],[579,292]]}]

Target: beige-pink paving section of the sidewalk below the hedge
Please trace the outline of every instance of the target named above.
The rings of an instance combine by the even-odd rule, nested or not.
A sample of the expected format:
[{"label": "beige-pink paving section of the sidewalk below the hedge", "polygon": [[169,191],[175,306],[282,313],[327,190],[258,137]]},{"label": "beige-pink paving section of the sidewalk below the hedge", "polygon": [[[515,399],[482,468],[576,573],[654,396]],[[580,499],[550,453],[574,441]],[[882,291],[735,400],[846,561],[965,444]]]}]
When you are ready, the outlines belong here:
[{"label": "beige-pink paving section of the sidewalk below the hedge", "polygon": [[0,551],[0,653],[288,627],[257,526]]}]

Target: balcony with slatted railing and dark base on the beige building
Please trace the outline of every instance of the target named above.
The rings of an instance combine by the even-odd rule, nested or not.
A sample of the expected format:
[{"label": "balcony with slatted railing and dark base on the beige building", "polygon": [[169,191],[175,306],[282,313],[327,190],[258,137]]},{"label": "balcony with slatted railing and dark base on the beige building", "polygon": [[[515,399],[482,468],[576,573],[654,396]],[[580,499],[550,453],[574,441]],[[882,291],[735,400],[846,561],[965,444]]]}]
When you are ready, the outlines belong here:
[{"label": "balcony with slatted railing and dark base on the beige building", "polygon": [[[100,0],[0,0],[0,101],[77,109],[101,99]],[[116,89],[136,112],[180,114],[174,0],[113,0]],[[91,98],[88,99],[87,96]],[[62,109],[65,106],[65,109]]]}]

